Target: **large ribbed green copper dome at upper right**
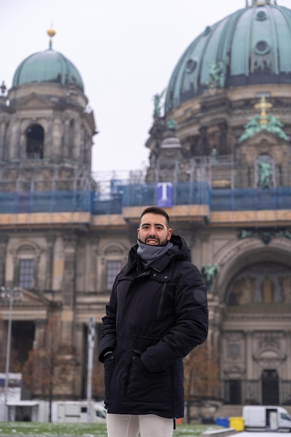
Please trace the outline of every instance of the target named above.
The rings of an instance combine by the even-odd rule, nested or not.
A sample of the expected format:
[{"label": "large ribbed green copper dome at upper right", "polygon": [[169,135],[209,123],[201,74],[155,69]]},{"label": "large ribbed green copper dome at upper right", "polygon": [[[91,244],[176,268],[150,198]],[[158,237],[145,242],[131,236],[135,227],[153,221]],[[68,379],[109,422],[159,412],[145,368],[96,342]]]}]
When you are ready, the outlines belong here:
[{"label": "large ribbed green copper dome at upper right", "polygon": [[246,1],[197,36],[167,87],[165,112],[211,88],[291,84],[291,10],[276,0]]}]

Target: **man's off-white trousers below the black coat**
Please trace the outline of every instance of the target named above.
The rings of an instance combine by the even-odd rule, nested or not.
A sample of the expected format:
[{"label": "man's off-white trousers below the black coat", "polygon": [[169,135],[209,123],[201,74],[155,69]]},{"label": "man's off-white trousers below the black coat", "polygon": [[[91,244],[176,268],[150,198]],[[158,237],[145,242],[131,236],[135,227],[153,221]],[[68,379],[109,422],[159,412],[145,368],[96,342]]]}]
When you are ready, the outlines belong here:
[{"label": "man's off-white trousers below the black coat", "polygon": [[173,420],[154,414],[107,413],[107,437],[172,437]]}]

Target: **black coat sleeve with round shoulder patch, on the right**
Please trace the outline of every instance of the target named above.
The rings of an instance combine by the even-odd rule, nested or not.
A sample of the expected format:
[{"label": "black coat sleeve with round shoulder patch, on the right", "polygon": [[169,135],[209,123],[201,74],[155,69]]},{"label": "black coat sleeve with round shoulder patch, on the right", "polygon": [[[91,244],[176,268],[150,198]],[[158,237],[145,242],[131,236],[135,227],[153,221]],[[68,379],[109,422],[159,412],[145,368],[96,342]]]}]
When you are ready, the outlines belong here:
[{"label": "black coat sleeve with round shoulder patch, on the right", "polygon": [[163,339],[140,356],[144,366],[153,373],[186,357],[207,339],[207,290],[197,267],[190,262],[184,265],[172,286],[176,323]]}]

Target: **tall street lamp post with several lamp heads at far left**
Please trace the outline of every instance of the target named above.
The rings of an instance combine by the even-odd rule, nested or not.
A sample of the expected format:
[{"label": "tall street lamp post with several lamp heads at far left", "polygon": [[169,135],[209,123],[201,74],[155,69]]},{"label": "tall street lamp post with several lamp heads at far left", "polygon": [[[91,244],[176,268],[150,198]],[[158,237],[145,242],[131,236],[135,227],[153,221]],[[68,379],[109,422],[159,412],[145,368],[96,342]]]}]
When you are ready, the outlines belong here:
[{"label": "tall street lamp post with several lamp heads at far left", "polygon": [[8,400],[8,380],[9,380],[9,367],[10,367],[10,348],[11,348],[11,327],[12,327],[12,313],[13,303],[22,301],[22,288],[14,287],[10,290],[10,287],[1,287],[1,302],[9,304],[8,310],[8,331],[7,331],[7,346],[6,346],[6,366],[5,366],[5,385],[4,385],[4,408],[3,408],[3,420],[8,419],[6,415],[7,400]]}]

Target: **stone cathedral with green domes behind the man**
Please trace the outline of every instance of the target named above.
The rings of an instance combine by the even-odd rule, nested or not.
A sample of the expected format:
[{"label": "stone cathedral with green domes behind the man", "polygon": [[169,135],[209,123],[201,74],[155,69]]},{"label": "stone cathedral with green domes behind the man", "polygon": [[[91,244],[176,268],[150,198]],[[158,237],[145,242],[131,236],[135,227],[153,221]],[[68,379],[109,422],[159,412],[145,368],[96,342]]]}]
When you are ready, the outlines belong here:
[{"label": "stone cathedral with green domes behind the man", "polygon": [[70,346],[64,360],[78,361],[78,378],[56,397],[87,397],[90,320],[100,371],[114,277],[142,210],[157,205],[207,285],[219,399],[291,406],[291,9],[243,2],[193,36],[154,96],[144,175],[92,176],[96,121],[53,29],[47,50],[17,66],[10,89],[1,85],[0,286],[22,298],[12,311],[2,299],[0,318],[12,319],[20,364],[54,318]]}]

